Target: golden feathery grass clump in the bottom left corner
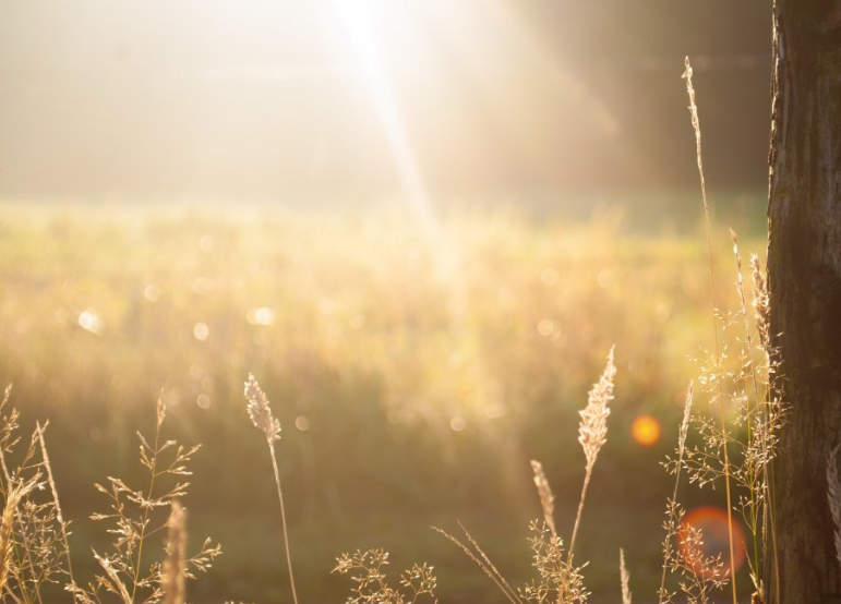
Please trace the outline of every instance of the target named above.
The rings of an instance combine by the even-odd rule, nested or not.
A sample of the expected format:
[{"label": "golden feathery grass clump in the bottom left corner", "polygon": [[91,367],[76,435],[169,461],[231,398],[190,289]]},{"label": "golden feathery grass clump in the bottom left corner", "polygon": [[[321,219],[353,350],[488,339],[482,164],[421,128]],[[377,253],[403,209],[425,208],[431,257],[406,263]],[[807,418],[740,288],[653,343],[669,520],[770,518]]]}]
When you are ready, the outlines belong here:
[{"label": "golden feathery grass clump in the bottom left corner", "polygon": [[[17,450],[19,416],[9,409],[11,387],[0,403],[0,462],[4,497],[0,521],[0,597],[17,604],[41,604],[58,597],[52,587],[69,592],[67,599],[80,604],[101,604],[116,597],[122,604],[182,604],[185,579],[207,570],[221,547],[209,537],[192,556],[187,555],[185,511],[179,500],[187,495],[188,464],[199,447],[185,449],[176,440],[163,440],[160,428],[166,416],[157,406],[155,437],[149,444],[139,432],[140,461],[148,471],[144,490],[130,487],[109,476],[108,486],[96,488],[109,500],[108,511],[91,519],[110,524],[112,542],[107,552],[92,552],[99,571],[89,580],[73,572],[65,521],[52,467],[47,454],[45,426],[37,425],[28,447]],[[16,462],[10,458],[17,457]],[[46,495],[45,495],[46,493]],[[168,532],[166,547],[149,552],[151,541],[160,542]],[[157,545],[157,543],[155,544]],[[145,556],[144,556],[145,549]]]}]

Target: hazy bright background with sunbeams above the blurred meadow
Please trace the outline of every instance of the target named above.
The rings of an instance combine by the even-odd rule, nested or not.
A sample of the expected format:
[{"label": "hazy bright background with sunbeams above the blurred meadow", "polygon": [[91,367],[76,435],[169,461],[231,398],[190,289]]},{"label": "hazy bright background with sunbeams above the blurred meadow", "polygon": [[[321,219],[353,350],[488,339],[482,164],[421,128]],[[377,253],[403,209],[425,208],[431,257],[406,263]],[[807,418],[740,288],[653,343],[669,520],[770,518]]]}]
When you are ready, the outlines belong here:
[{"label": "hazy bright background with sunbeams above the blurred meadow", "polygon": [[0,0],[0,198],[761,185],[767,4]]}]

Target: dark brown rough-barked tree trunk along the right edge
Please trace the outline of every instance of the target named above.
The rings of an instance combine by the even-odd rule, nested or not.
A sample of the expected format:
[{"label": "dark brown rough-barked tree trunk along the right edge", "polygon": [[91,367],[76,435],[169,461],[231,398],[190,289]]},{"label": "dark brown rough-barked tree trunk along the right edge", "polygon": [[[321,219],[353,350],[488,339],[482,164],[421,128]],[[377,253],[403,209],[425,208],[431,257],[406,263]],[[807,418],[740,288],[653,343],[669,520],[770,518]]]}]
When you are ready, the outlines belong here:
[{"label": "dark brown rough-barked tree trunk along the right edge", "polygon": [[841,2],[774,13],[768,273],[790,415],[774,463],[781,584],[767,564],[766,602],[827,604],[841,602],[826,479],[841,442]]}]

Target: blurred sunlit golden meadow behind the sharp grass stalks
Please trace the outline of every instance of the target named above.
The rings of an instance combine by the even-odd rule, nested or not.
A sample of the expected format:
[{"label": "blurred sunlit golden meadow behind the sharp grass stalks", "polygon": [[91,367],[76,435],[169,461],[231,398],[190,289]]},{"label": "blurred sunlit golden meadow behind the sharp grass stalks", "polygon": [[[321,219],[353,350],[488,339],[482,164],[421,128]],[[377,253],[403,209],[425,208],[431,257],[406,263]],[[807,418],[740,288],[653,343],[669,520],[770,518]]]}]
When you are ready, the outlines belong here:
[{"label": "blurred sunlit golden meadow behind the sharp grass stalks", "polygon": [[[580,548],[596,601],[617,593],[624,547],[635,592],[659,581],[660,521],[689,360],[711,346],[700,230],[628,228],[503,208],[419,228],[398,213],[245,208],[0,214],[0,380],[47,440],[77,572],[108,540],[87,517],[107,475],[140,476],[136,430],[202,443],[191,530],[225,555],[195,601],[286,601],[265,444],[245,413],[251,372],[283,426],[277,445],[299,593],[338,602],[335,557],[386,547],[395,571],[426,560],[442,602],[494,602],[493,584],[430,524],[462,520],[516,582],[540,516],[543,462],[572,529],[581,481],[577,411],[616,347],[616,399]],[[752,229],[753,230],[753,229]],[[754,231],[755,232],[755,231]],[[735,263],[714,227],[718,299]],[[764,255],[754,239],[743,249]],[[663,438],[644,447],[635,418]],[[713,495],[714,496],[714,495]],[[692,499],[690,499],[692,500]],[[718,499],[713,499],[719,503]],[[568,524],[568,527],[566,526]]]}]

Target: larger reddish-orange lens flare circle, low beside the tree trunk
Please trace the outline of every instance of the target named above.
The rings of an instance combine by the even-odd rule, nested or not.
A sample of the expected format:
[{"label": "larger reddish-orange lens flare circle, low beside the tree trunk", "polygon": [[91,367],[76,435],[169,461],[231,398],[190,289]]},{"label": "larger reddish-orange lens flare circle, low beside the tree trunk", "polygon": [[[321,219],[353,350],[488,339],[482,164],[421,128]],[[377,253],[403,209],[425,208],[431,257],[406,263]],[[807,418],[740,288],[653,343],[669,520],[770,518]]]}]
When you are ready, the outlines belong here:
[{"label": "larger reddish-orange lens flare circle, low beside the tree trunk", "polygon": [[[735,520],[733,530],[733,566],[736,571],[745,564],[746,536]],[[686,566],[705,579],[724,579],[730,576],[730,537],[728,512],[714,506],[700,506],[684,516],[677,534],[677,546]],[[716,571],[711,558],[720,557],[723,568]]]}]

